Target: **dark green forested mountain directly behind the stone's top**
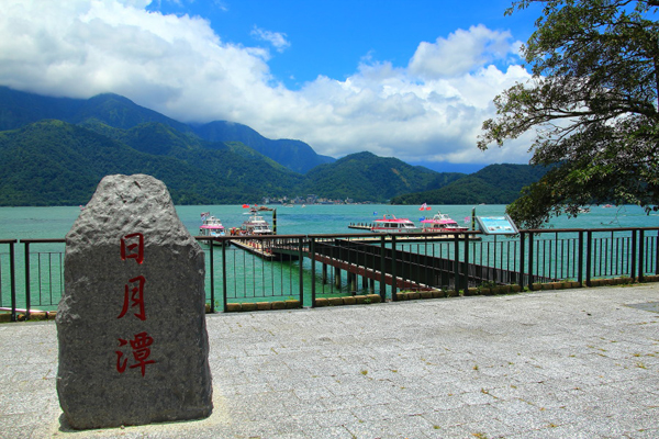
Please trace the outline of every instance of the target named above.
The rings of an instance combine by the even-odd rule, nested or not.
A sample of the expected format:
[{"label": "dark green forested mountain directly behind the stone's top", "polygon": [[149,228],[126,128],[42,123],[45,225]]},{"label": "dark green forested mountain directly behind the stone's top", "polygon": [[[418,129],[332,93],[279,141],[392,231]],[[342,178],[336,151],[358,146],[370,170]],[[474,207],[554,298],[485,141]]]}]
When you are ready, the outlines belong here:
[{"label": "dark green forested mountain directly behind the stone's top", "polygon": [[[167,133],[164,125],[156,126]],[[124,135],[134,145],[150,145],[139,131],[133,128]],[[101,178],[112,173],[154,176],[167,184],[177,204],[259,201],[265,195],[295,191],[304,178],[248,157],[235,145],[196,148],[177,144],[180,133],[171,134],[169,139],[159,136],[161,149],[142,151],[55,120],[0,132],[0,205],[86,204]],[[254,168],[258,172],[252,172]]]}]

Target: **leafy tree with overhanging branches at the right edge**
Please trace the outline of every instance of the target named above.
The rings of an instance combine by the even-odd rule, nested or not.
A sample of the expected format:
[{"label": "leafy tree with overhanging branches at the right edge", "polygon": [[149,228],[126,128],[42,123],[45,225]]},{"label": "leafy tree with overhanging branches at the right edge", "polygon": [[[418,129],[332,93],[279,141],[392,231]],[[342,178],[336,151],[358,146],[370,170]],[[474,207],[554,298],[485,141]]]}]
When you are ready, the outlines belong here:
[{"label": "leafy tree with overhanging branches at the right edge", "polygon": [[543,14],[523,47],[532,68],[494,100],[478,146],[535,130],[532,165],[550,170],[507,212],[535,228],[583,205],[659,204],[659,1],[522,0]]}]

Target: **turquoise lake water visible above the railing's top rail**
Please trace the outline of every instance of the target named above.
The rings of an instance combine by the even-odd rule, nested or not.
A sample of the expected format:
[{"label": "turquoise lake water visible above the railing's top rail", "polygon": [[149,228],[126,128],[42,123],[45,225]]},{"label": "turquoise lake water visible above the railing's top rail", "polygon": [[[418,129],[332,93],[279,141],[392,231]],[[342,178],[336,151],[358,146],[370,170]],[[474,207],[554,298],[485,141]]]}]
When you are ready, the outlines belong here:
[{"label": "turquoise lake water visible above the railing's top rail", "polygon": [[[437,210],[459,224],[465,224],[465,218],[471,216],[472,209],[467,205],[442,205],[434,206],[432,211],[420,212],[418,206],[384,204],[276,207],[279,235],[356,233],[358,230],[349,229],[348,224],[370,223],[387,213],[418,222],[420,217],[432,216]],[[241,205],[177,206],[177,212],[192,235],[199,233],[202,212],[217,216],[227,228],[239,227],[249,213]],[[476,206],[478,216],[502,215],[504,212],[505,205]],[[64,238],[79,214],[80,209],[77,206],[0,207],[0,239]],[[269,222],[272,219],[271,212],[263,212],[263,216]],[[612,209],[595,206],[590,213],[577,218],[554,218],[550,225],[555,228],[658,227],[659,214],[646,215],[643,209],[630,205]]]}]

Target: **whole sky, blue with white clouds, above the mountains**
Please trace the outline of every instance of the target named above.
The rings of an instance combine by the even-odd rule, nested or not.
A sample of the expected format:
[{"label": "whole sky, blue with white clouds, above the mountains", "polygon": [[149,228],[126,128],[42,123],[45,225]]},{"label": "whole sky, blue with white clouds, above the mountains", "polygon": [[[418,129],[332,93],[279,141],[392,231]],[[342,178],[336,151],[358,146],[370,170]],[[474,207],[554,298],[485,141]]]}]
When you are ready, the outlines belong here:
[{"label": "whole sky, blue with white clouds, above the mountains", "polygon": [[114,92],[191,123],[226,120],[339,158],[433,169],[527,162],[529,138],[482,153],[492,99],[529,78],[535,10],[510,0],[4,0],[0,85]]}]

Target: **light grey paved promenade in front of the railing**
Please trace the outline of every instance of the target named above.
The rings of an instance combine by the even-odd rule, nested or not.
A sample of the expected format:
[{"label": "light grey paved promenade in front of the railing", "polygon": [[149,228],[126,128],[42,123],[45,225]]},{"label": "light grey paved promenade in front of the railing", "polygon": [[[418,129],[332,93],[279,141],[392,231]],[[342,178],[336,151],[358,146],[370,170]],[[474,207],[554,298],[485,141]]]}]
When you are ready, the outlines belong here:
[{"label": "light grey paved promenade in front of the railing", "polygon": [[0,438],[657,438],[659,284],[214,314],[211,417],[74,431],[0,325]]}]

